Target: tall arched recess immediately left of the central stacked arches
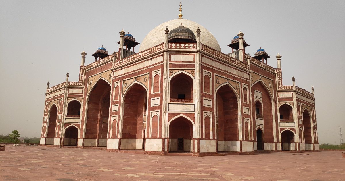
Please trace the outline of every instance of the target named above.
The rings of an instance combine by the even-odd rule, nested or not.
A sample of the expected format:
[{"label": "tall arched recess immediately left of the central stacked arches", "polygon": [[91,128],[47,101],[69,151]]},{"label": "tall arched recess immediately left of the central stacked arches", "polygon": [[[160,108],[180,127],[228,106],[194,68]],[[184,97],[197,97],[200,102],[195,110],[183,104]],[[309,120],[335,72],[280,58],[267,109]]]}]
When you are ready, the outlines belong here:
[{"label": "tall arched recess immediately left of the central stacked arches", "polygon": [[142,150],[146,126],[144,120],[147,117],[147,91],[141,84],[134,83],[122,101],[124,115],[120,149]]}]

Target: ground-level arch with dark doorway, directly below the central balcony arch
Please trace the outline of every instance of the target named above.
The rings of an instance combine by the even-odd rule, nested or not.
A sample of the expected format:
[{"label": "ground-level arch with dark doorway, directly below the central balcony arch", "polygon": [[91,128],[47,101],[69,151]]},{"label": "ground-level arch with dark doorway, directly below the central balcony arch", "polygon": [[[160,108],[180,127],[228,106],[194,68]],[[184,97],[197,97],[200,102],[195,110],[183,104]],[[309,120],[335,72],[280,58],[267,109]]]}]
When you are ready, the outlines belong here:
[{"label": "ground-level arch with dark doorway, directly below the central balcony arch", "polygon": [[178,117],[169,125],[169,152],[191,152],[193,124],[184,117]]}]

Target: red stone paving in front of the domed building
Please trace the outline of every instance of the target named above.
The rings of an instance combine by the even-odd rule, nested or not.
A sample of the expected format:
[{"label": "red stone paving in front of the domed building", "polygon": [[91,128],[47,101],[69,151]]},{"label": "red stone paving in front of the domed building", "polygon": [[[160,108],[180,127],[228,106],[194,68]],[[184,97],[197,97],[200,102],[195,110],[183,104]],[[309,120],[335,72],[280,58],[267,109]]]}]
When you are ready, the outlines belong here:
[{"label": "red stone paving in front of the domed building", "polygon": [[345,180],[340,151],[293,154],[182,157],[7,145],[0,180]]}]

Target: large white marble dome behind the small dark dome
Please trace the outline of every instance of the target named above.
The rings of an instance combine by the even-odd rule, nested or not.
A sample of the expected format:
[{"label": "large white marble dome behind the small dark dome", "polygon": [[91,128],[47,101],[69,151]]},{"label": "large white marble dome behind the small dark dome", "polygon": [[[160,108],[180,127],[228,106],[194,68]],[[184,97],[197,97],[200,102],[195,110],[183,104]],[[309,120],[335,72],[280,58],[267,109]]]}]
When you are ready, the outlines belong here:
[{"label": "large white marble dome behind the small dark dome", "polygon": [[218,51],[220,51],[220,46],[218,44],[218,41],[216,40],[216,38],[203,26],[201,26],[200,24],[194,22],[194,21],[190,21],[187,19],[173,19],[170,21],[167,21],[165,23],[162,23],[160,25],[158,25],[156,28],[152,29],[144,38],[144,40],[142,40],[141,44],[140,44],[140,48],[139,48],[139,52],[149,49],[151,47],[154,47],[158,44],[160,44],[161,42],[164,42],[165,40],[165,28],[168,27],[169,30],[171,31],[172,29],[179,27],[180,25],[189,28],[190,30],[192,30],[195,35],[196,35],[196,30],[198,29],[198,27],[201,30],[201,37],[200,37],[200,41],[201,43],[205,44],[206,46],[209,46],[213,49],[216,49]]}]

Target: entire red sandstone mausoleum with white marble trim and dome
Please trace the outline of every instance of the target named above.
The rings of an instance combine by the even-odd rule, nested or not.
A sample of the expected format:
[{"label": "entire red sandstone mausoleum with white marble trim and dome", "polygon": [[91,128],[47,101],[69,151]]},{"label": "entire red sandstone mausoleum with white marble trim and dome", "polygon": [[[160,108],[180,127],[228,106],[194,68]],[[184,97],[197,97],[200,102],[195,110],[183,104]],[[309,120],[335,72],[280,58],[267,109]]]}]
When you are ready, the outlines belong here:
[{"label": "entire red sandstone mausoleum with white marble trim and dome", "polygon": [[77,82],[68,73],[65,82],[48,82],[40,144],[195,156],[318,151],[314,87],[299,88],[294,77],[283,85],[282,56],[277,68],[261,47],[249,56],[241,31],[223,53],[213,34],[179,11],[147,34],[138,53],[139,42],[122,29],[114,53],[101,46],[85,65],[81,52]]}]

